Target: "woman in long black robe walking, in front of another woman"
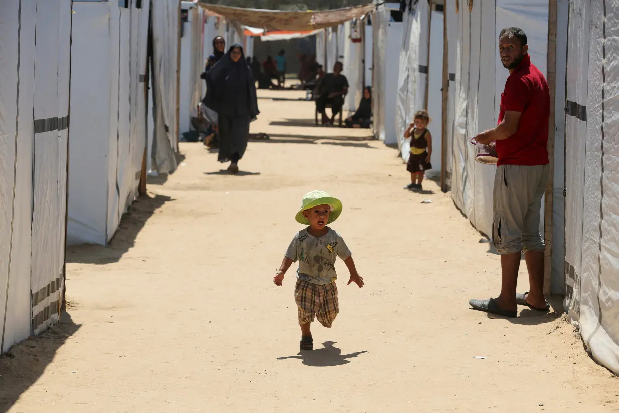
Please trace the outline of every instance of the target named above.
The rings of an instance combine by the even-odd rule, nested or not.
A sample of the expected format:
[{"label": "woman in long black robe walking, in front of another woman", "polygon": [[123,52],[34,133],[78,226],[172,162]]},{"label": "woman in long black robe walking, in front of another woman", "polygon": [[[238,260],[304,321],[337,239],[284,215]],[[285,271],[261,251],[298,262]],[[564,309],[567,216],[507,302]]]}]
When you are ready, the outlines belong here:
[{"label": "woman in long black robe walking, in front of another woman", "polygon": [[256,85],[245,62],[243,46],[233,44],[206,76],[204,104],[219,115],[219,162],[230,162],[228,170],[238,172],[238,160],[245,154],[249,122],[258,114]]}]

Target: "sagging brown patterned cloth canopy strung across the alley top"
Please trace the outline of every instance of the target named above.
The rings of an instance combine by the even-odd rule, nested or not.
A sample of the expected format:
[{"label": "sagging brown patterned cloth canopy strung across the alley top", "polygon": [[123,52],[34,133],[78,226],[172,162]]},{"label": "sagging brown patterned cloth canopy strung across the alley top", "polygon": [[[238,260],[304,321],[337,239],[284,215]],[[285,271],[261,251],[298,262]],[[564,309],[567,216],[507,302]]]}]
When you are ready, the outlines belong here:
[{"label": "sagging brown patterned cloth canopy strung across the alley top", "polygon": [[374,4],[366,4],[365,6],[324,11],[276,11],[218,6],[206,1],[201,1],[200,4],[209,12],[222,15],[228,20],[235,20],[246,26],[293,32],[336,26],[347,20],[361,17],[376,8]]}]

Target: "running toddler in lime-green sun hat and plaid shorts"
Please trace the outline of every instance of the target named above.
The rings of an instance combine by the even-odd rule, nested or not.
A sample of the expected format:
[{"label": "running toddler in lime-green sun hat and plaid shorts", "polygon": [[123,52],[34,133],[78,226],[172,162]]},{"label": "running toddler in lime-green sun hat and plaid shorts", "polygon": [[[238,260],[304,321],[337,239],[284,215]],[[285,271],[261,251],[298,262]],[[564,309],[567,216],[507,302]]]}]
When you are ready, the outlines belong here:
[{"label": "running toddler in lime-green sun hat and plaid shorts", "polygon": [[314,315],[326,328],[331,328],[339,313],[337,287],[335,286],[335,259],[339,257],[350,271],[347,284],[355,282],[363,287],[363,278],[357,274],[355,262],[344,239],[327,224],[331,224],[342,212],[342,202],[322,191],[311,191],[303,196],[297,222],[308,225],[295,235],[284,254],[284,261],[273,277],[275,285],[282,285],[284,275],[293,263],[299,262],[297,270],[297,301],[301,325],[301,350],[312,350],[313,341],[309,323]]}]

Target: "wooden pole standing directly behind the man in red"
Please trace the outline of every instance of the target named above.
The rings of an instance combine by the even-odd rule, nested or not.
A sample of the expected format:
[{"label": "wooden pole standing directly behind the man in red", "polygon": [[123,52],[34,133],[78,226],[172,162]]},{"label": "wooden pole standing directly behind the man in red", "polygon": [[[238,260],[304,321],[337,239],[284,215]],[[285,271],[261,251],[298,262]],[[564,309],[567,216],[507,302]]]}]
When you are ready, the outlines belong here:
[{"label": "wooden pole standing directly behind the man in red", "polygon": [[553,227],[553,188],[555,165],[555,83],[556,83],[556,0],[548,0],[548,48],[547,48],[547,81],[550,87],[550,116],[548,118],[548,162],[550,178],[544,193],[543,232],[546,248],[543,259],[543,293],[551,292],[552,274],[552,227]]}]

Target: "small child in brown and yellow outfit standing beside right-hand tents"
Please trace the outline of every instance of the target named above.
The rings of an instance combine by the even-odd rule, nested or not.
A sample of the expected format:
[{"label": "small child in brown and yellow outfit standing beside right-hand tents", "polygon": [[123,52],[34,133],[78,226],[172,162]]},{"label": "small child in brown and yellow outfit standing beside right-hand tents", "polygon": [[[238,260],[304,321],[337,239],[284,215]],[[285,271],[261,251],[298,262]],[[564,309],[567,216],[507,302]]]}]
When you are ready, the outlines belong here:
[{"label": "small child in brown and yellow outfit standing beside right-hand tents", "polygon": [[404,189],[409,191],[421,191],[423,173],[432,169],[430,157],[432,155],[432,136],[426,129],[430,123],[428,111],[419,110],[415,113],[413,123],[404,131],[404,139],[410,139],[409,162],[406,170],[410,172],[410,184]]}]

